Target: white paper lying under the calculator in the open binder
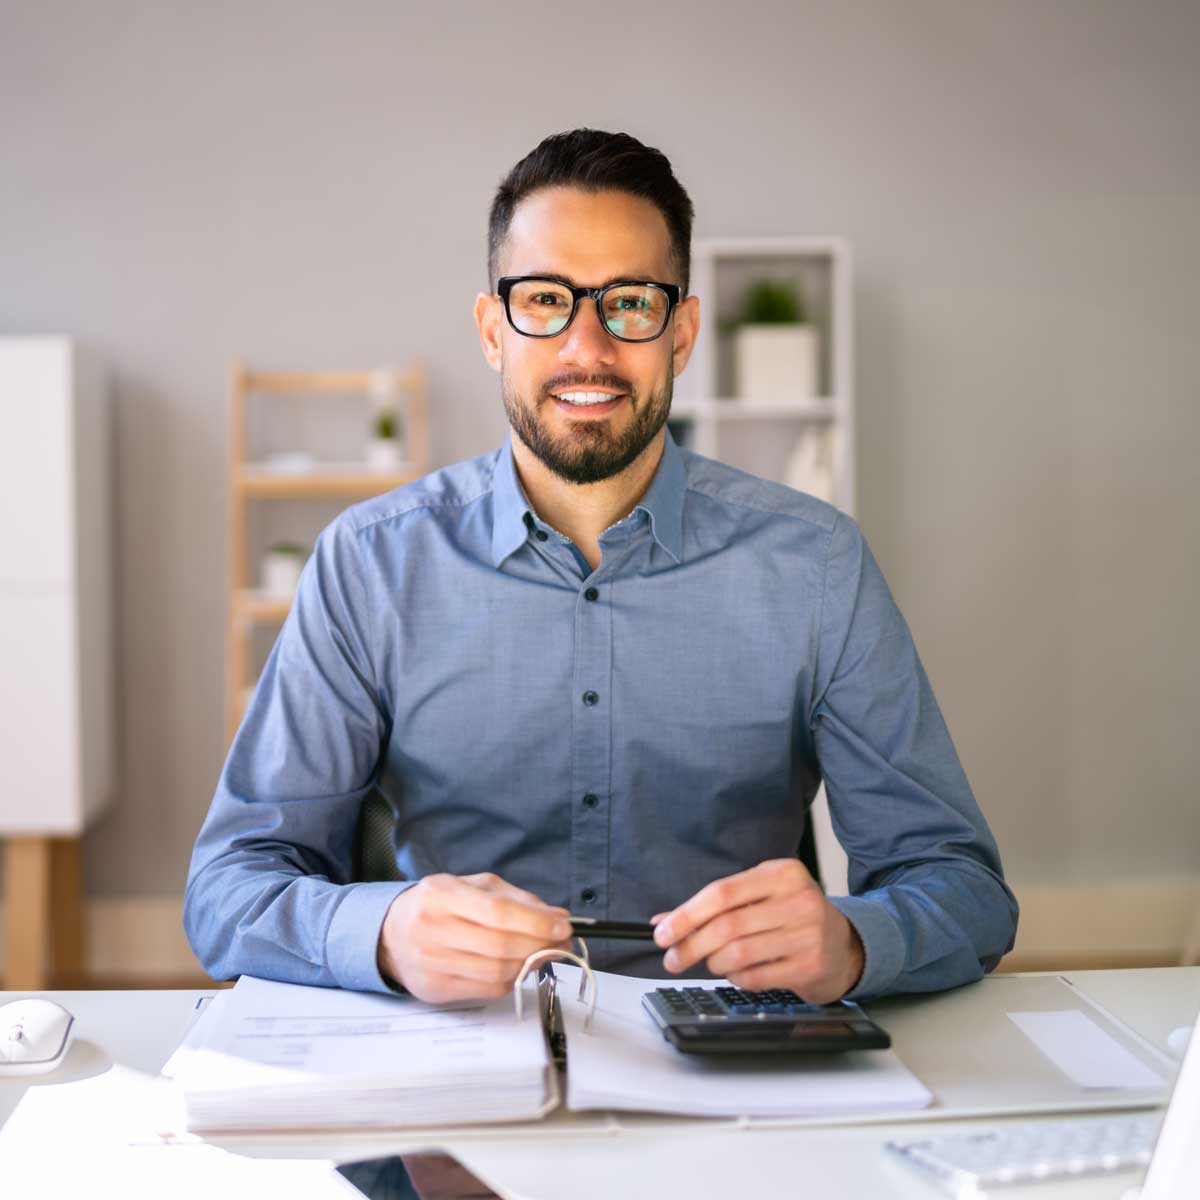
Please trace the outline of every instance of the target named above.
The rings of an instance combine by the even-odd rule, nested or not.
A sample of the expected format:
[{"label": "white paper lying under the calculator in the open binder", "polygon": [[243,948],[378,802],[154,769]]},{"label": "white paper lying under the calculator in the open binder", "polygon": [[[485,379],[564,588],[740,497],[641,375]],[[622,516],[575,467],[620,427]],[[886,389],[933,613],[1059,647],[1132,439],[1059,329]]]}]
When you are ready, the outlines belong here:
[{"label": "white paper lying under the calculator in the open binder", "polygon": [[566,1030],[566,1103],[686,1116],[824,1116],[923,1109],[932,1093],[892,1050],[839,1055],[776,1055],[751,1064],[738,1055],[676,1050],[642,1008],[661,979],[596,971],[590,1033],[576,1000],[578,967],[554,965]]}]

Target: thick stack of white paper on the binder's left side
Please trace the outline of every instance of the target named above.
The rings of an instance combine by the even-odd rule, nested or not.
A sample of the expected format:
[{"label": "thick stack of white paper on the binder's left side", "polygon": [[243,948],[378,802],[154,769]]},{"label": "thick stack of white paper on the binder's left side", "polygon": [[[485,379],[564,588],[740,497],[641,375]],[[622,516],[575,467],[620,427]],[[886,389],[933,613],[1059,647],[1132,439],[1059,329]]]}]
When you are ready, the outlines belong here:
[{"label": "thick stack of white paper on the binder's left side", "polygon": [[530,980],[512,997],[426,1004],[242,976],[170,1063],[192,1132],[512,1121],[554,1103]]}]

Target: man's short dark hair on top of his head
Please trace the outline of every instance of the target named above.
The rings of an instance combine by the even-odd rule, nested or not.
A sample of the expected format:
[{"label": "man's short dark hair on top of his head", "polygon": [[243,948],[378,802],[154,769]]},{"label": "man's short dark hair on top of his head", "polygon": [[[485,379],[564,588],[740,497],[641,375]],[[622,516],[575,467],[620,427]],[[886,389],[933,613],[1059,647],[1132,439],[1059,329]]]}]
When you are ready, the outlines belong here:
[{"label": "man's short dark hair on top of his head", "polygon": [[[487,283],[494,290],[500,248],[512,214],[540,187],[578,187],[584,192],[629,192],[649,200],[665,217],[671,235],[671,265],[683,294],[691,272],[691,222],[695,209],[661,150],[628,133],[571,130],[554,133],[530,150],[500,181],[487,221]],[[665,280],[664,282],[671,282]]]}]

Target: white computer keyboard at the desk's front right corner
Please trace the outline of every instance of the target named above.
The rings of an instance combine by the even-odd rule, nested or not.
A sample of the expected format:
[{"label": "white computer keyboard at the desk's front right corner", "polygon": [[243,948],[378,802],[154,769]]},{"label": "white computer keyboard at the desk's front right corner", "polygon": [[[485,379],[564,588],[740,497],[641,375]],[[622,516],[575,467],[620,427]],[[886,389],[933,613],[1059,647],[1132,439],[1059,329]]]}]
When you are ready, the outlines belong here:
[{"label": "white computer keyboard at the desk's front right corner", "polygon": [[1006,1184],[1145,1166],[1162,1121],[1162,1112],[1021,1121],[980,1133],[889,1141],[883,1148],[949,1195],[966,1198]]}]

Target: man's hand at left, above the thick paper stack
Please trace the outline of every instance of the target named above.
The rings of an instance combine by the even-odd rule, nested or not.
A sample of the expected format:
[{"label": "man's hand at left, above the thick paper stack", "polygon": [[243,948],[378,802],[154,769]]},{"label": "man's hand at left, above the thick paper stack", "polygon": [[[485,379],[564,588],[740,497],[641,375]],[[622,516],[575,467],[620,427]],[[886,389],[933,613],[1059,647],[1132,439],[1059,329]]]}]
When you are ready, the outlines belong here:
[{"label": "man's hand at left, above the thick paper stack", "polygon": [[535,950],[565,948],[565,908],[498,875],[428,875],[391,902],[380,972],[430,1003],[503,996]]}]

